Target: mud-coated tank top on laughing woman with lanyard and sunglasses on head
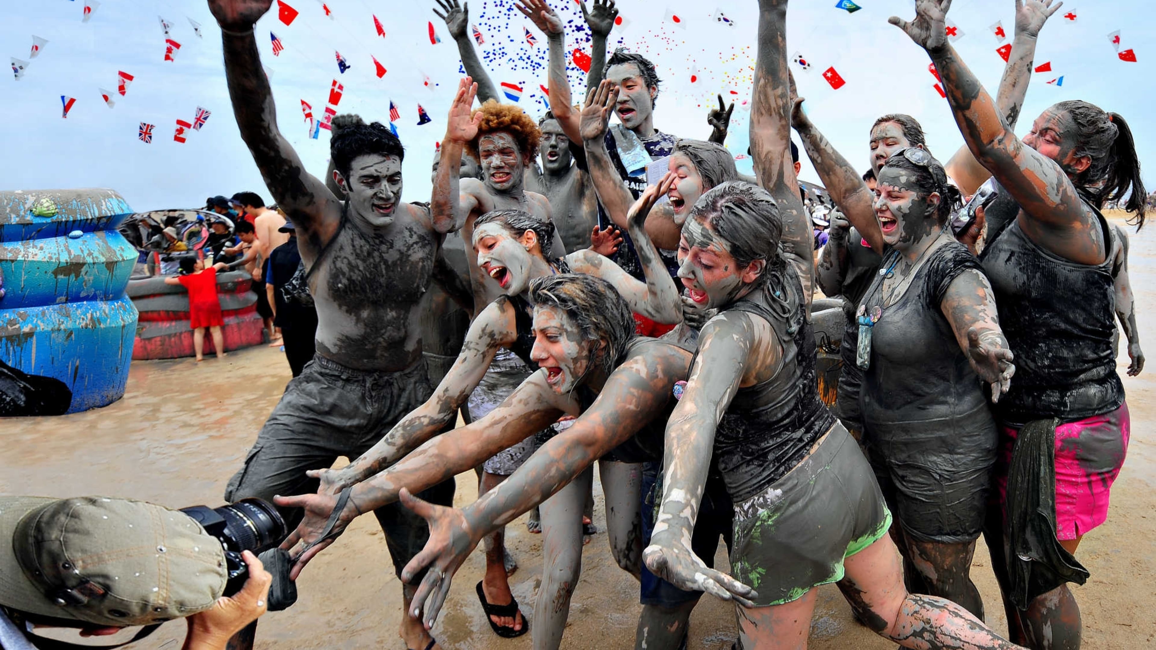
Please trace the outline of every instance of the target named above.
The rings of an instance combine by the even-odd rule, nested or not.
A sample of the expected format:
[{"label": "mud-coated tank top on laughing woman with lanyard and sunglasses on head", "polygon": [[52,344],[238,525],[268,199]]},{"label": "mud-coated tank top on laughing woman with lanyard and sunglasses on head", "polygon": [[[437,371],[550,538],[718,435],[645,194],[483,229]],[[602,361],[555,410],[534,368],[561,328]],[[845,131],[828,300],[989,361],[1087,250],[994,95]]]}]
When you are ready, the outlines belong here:
[{"label": "mud-coated tank top on laughing woman with lanyard and sunglasses on head", "polygon": [[[961,273],[981,268],[958,242],[943,244],[927,256],[895,304],[883,305],[882,276],[877,274],[860,302],[868,312],[882,308],[879,323],[872,327],[870,367],[864,374],[860,397],[867,429],[925,422],[949,430],[943,420],[987,406],[979,377],[940,309],[948,287]],[[970,420],[981,424],[983,418]],[[990,419],[986,427],[991,427]]]}]

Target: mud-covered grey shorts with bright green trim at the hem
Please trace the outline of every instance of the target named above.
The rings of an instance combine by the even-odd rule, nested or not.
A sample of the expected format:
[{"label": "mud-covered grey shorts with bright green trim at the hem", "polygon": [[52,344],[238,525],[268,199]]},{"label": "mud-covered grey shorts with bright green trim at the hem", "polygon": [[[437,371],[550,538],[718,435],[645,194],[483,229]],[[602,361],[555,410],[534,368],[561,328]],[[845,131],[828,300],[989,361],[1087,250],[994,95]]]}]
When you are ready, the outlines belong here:
[{"label": "mud-covered grey shorts with bright green trim at the hem", "polygon": [[818,448],[734,507],[731,575],[758,607],[843,579],[843,561],[887,534],[891,514],[859,445],[836,423]]}]

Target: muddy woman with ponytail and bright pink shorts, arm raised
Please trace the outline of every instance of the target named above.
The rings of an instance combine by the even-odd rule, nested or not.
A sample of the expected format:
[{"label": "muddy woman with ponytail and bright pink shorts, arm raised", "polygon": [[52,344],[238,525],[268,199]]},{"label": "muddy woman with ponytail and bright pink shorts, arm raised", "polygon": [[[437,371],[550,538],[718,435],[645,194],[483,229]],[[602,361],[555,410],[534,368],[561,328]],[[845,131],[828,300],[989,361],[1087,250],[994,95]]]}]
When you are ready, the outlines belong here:
[{"label": "muddy woman with ponytail and bright pink shorts, arm raised", "polygon": [[[1099,210],[1119,200],[1143,223],[1140,162],[1124,118],[1088,102],[1048,108],[1017,138],[944,38],[949,6],[919,0],[914,20],[890,21],[931,56],[964,142],[1020,207],[990,234],[980,258],[1016,357],[1015,381],[995,406],[998,507],[987,546],[1011,637],[1032,648],[1079,648],[1080,608],[1067,582],[1088,574],[1070,554],[1107,516],[1129,430],[1112,349],[1112,230]],[[1031,509],[1054,517],[1032,520],[1024,493],[1008,485],[1050,486],[1052,474],[1054,493],[1039,489]],[[1025,532],[1011,535],[1013,526]],[[1025,544],[1055,559],[1044,563],[1052,576],[1037,579],[1038,564],[1021,564]],[[1024,581],[1028,570],[1032,579]]]}]

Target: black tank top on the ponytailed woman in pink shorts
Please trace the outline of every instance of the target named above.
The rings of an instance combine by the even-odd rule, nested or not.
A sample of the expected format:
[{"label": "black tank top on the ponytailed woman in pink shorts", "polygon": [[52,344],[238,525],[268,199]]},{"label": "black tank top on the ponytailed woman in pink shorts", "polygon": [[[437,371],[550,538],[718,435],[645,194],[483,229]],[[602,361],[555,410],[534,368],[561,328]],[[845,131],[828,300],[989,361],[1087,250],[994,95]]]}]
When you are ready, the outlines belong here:
[{"label": "black tank top on the ponytailed woman in pink shorts", "polygon": [[1101,415],[1124,404],[1112,333],[1116,290],[1113,234],[1095,206],[1109,251],[1101,264],[1076,264],[1036,245],[1013,220],[980,261],[995,290],[1000,325],[1015,353],[1011,390],[994,405],[1001,420],[1064,421]]}]

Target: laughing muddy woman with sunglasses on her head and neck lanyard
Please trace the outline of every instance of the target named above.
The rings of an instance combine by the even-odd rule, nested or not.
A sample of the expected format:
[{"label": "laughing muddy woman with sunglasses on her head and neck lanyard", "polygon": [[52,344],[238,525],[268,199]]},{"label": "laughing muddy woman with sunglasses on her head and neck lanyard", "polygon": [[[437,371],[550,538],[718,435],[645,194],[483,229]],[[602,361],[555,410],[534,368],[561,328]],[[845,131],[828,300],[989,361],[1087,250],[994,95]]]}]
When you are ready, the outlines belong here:
[{"label": "laughing muddy woman with sunglasses on her head and neck lanyard", "polygon": [[998,400],[1015,372],[1011,352],[991,283],[949,230],[958,190],[939,161],[895,152],[876,193],[889,252],[855,312],[861,443],[895,519],[907,589],[983,619],[970,570],[998,435],[981,382]]}]

